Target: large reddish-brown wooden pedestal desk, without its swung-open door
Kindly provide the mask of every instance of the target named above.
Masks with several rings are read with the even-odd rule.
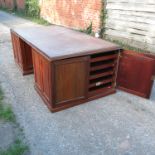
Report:
[[[35,88],[51,111],[116,91],[119,46],[58,26],[14,29],[11,36],[16,63],[23,74],[34,68]]]

